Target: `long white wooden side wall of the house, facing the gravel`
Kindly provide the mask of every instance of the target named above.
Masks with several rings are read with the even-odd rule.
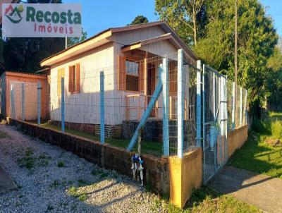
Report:
[[[80,64],[80,92],[68,91],[68,66]],[[66,122],[71,123],[100,123],[100,71],[104,71],[105,90],[105,124],[120,124],[122,119],[115,110],[120,101],[116,97],[117,73],[114,66],[114,45],[106,44],[75,58],[63,61],[51,67],[50,86],[50,117],[53,121],[61,121],[61,97],[57,95],[58,70],[65,68],[65,103]],[[114,74],[115,73],[115,74]]]

